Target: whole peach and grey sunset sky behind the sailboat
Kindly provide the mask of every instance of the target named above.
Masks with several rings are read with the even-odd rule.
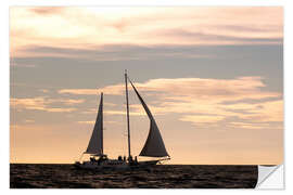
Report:
[[[283,161],[280,6],[11,6],[10,161],[78,159],[101,92],[104,152],[127,155],[125,69],[169,164]],[[136,156],[149,119],[129,102]]]

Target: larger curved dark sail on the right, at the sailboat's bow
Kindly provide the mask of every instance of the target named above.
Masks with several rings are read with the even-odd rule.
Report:
[[[150,157],[169,156],[166,148],[165,148],[165,144],[163,142],[163,139],[161,136],[160,130],[158,130],[156,122],[154,120],[154,117],[152,116],[149,107],[146,106],[146,104],[144,103],[142,98],[140,96],[139,92],[135,88],[131,80],[129,78],[128,78],[128,80],[131,83],[133,90],[136,91],[146,115],[150,118],[150,123],[151,123],[148,139],[146,139],[144,146],[143,146],[142,151],[140,152],[139,156],[150,156]]]

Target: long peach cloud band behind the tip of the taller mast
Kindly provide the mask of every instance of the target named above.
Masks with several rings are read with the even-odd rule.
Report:
[[[202,79],[202,78],[176,78],[176,79],[151,79],[144,83],[135,83],[140,91],[161,92],[173,94],[165,95],[166,100],[176,101],[195,98],[205,100],[206,98],[217,98],[217,101],[224,96],[222,101],[242,100],[250,98],[252,100],[279,96],[276,92],[262,92],[259,88],[265,87],[262,77],[240,77],[237,79]],[[176,89],[176,90],[174,90]],[[61,89],[58,92],[69,94],[99,94],[104,92],[112,95],[124,93],[125,84],[118,83],[106,86],[99,89]],[[174,96],[175,95],[175,96]],[[247,96],[249,95],[249,96]]]

